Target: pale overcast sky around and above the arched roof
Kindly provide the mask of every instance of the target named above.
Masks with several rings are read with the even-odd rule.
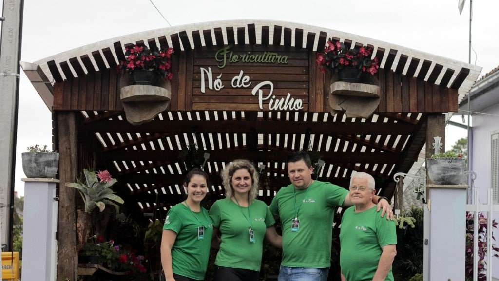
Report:
[[[350,32],[468,62],[469,0],[227,1],[153,0],[172,25],[226,19],[272,19]],[[1,9],[1,7],[0,7]],[[473,2],[472,63],[482,74],[499,64],[497,0]],[[149,0],[25,0],[21,60],[35,60],[96,41],[168,24]],[[23,194],[20,153],[51,146],[51,115],[21,70],[15,189]],[[459,118],[461,119],[461,118]],[[466,136],[448,128],[447,145]]]

